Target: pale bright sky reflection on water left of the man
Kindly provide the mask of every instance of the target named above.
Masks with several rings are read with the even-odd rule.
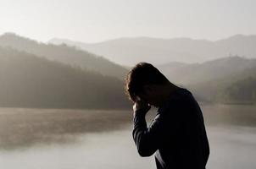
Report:
[[[81,136],[80,143],[37,146],[25,151],[5,151],[1,168],[142,168],[153,161],[139,158],[131,133],[118,131]],[[28,162],[29,161],[29,162]],[[151,165],[148,164],[151,163]],[[39,167],[40,166],[40,167]],[[149,167],[150,168],[150,167]],[[153,167],[151,167],[153,168]]]

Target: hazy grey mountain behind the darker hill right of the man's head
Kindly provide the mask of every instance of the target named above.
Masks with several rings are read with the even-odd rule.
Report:
[[[177,84],[198,85],[231,76],[256,66],[256,59],[246,57],[223,57],[204,63],[166,63],[158,68]],[[237,77],[240,78],[240,77]],[[236,77],[232,77],[236,79]]]

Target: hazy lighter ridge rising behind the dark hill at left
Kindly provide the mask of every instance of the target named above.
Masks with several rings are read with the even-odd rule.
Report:
[[[0,46],[12,47],[19,51],[30,52],[36,56],[70,64],[75,67],[97,71],[100,74],[124,79],[127,69],[112,63],[104,57],[96,56],[90,52],[82,51],[76,47],[66,45],[53,45],[38,43],[31,39],[6,33],[0,36]]]

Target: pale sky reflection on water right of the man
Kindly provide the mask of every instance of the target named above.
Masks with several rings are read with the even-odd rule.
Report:
[[[209,128],[208,168],[255,169],[256,128]]]

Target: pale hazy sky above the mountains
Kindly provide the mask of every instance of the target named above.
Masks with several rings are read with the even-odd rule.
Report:
[[[256,34],[255,0],[0,0],[0,34],[46,42]]]

